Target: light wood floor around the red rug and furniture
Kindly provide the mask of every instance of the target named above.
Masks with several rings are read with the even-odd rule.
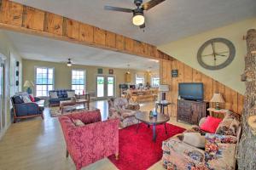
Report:
[[[97,101],[91,105],[99,108],[102,119],[108,117],[108,102]],[[153,103],[141,105],[142,111],[150,111]],[[69,170],[75,169],[73,161],[65,157],[66,144],[62,136],[61,126],[57,118],[49,116],[49,109],[45,108],[44,121],[33,118],[25,122],[12,124],[0,141],[0,169],[1,170]],[[190,127],[182,122],[176,122],[172,117],[170,123],[179,127]],[[102,159],[83,170],[117,169],[108,159]],[[163,169],[160,161],[150,167],[151,170]]]

